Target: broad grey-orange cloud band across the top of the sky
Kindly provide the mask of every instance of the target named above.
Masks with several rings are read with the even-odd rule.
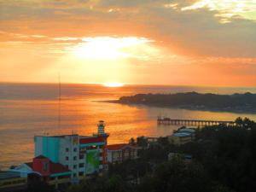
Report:
[[[154,39],[176,55],[251,58],[256,23],[246,15],[254,5],[247,0],[0,0],[5,32],[0,40],[53,44],[135,36]]]

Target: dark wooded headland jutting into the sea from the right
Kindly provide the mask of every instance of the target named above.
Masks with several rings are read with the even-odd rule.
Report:
[[[165,108],[256,113],[256,94],[249,92],[233,95],[201,94],[197,92],[137,94],[135,96],[122,96],[115,102]]]

